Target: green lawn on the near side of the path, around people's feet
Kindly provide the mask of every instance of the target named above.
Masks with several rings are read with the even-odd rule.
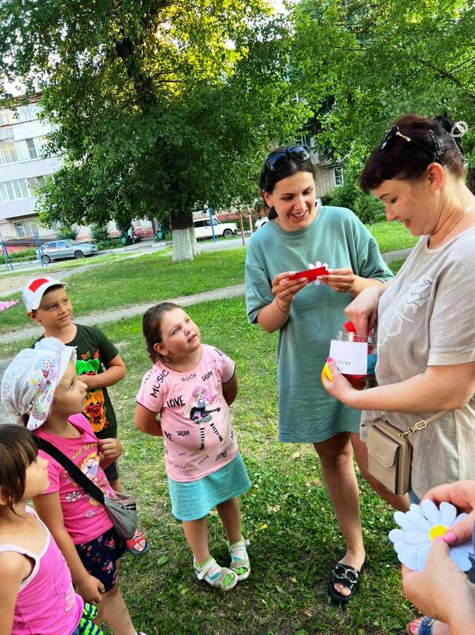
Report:
[[[387,538],[394,521],[362,479],[365,575],[346,610],[328,603],[331,564],[344,547],[314,450],[277,441],[277,335],[248,326],[243,298],[196,305],[189,313],[203,341],[222,347],[237,363],[239,395],[231,411],[253,483],[241,497],[252,572],[226,595],[194,576],[182,526],[170,512],[163,442],[133,427],[135,393],[149,368],[140,319],[109,324],[105,331],[119,345],[128,368],[127,377],[110,390],[124,442],[121,479],[137,499],[151,542],[149,554],[126,556],[122,565],[121,588],[137,630],[148,635],[400,632],[411,607],[401,594],[399,565]],[[211,553],[227,563],[220,521],[215,513],[209,521]]]

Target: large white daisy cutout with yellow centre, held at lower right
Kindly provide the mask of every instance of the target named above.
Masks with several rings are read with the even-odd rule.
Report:
[[[394,520],[401,529],[390,531],[389,540],[394,543],[399,562],[413,571],[424,570],[432,540],[443,536],[465,516],[467,514],[457,516],[457,509],[450,503],[441,503],[437,509],[432,500],[424,500],[420,506],[411,505],[405,514],[394,512]],[[469,555],[474,555],[471,542],[450,547],[449,555],[462,571],[472,568],[469,558]]]

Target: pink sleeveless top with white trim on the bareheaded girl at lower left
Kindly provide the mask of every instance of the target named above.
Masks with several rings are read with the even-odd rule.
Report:
[[[37,518],[32,509],[26,510]],[[83,615],[84,601],[74,592],[64,556],[46,525],[41,525],[44,546],[39,555],[18,545],[0,545],[0,552],[23,554],[33,565],[20,584],[11,635],[71,635]]]

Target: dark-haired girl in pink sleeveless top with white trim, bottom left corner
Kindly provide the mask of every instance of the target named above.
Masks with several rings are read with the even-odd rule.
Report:
[[[19,425],[0,426],[1,631],[102,634],[83,619],[83,598],[74,592],[65,559],[48,528],[27,507],[30,497],[48,487],[48,462],[37,453],[31,432]]]

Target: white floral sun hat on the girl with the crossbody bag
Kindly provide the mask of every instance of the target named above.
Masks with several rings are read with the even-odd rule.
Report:
[[[2,381],[3,404],[27,428],[36,430],[50,415],[57,385],[70,361],[76,362],[76,349],[55,337],[44,337],[34,349],[23,349],[8,364]]]

